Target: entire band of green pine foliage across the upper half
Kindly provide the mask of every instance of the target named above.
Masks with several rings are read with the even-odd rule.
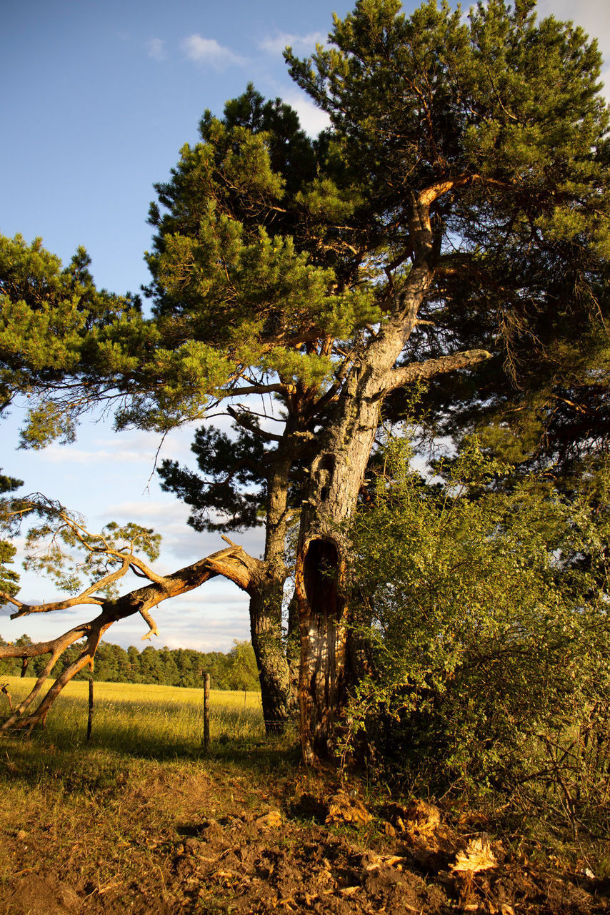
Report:
[[[498,357],[483,382],[487,371],[501,385],[504,363],[522,385],[540,362],[548,389],[562,348],[582,363],[571,330],[603,326],[610,251],[595,42],[538,20],[533,0],[467,17],[434,0],[410,16],[397,0],[359,0],[330,46],[287,61],[331,128],[309,139],[251,85],[222,117],[204,114],[198,143],[155,186],[150,320],[129,296],[94,290],[84,252],[62,270],[39,242],[3,242],[0,384],[5,402],[40,398],[27,444],[70,436],[101,397],[119,427],[162,432],[242,385],[277,385],[300,419],[323,413],[400,311],[421,241],[412,202],[430,188],[434,279],[418,314],[430,323],[401,361],[483,348]],[[87,381],[71,403],[67,373]],[[480,407],[494,395],[464,396]]]

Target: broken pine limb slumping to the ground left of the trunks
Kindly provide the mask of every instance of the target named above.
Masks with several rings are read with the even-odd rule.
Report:
[[[120,527],[111,523],[99,534],[91,534],[82,520],[71,514],[57,502],[37,494],[26,499],[13,501],[4,506],[5,521],[15,525],[32,512],[43,516],[44,522],[27,534],[27,567],[46,570],[59,585],[73,593],[64,600],[44,604],[24,604],[17,597],[0,591],[0,601],[12,604],[16,611],[11,619],[29,616],[32,613],[52,613],[90,604],[98,607],[98,616],[49,641],[30,645],[0,646],[0,661],[8,658],[40,657],[48,654],[48,661],[37,677],[37,682],[26,698],[11,709],[11,714],[0,724],[0,731],[25,729],[30,731],[37,725],[44,725],[48,711],[64,686],[79,671],[93,662],[95,652],[104,633],[119,619],[126,619],[139,613],[149,627],[144,639],[158,635],[151,610],[169,597],[177,597],[204,584],[215,576],[229,578],[243,591],[255,593],[261,587],[265,575],[264,564],[247,554],[241,546],[231,543],[186,565],[171,575],[157,575],[142,558],[158,555],[160,537],[150,529],[136,524]],[[78,550],[79,553],[75,554]],[[145,579],[143,587],[135,588],[122,596],[117,595],[117,582],[129,572]],[[83,578],[92,579],[83,587]],[[75,642],[84,640],[75,661],[60,674],[48,692],[40,698],[42,688],[61,655]]]

